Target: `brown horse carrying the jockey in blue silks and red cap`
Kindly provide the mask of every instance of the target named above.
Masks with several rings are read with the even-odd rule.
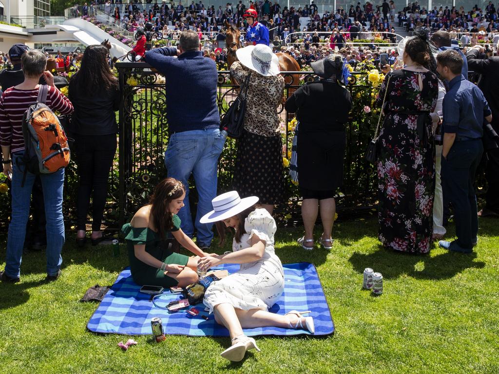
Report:
[[[239,31],[240,24],[234,25],[225,21],[227,31],[225,34],[226,46],[227,46],[227,68],[230,70],[231,65],[234,61],[237,61],[238,57],[236,56],[236,50],[238,48],[243,48],[244,46],[241,44],[241,31]],[[296,60],[288,55],[287,53],[276,53],[275,54],[279,59],[279,68],[280,71],[300,71],[300,65]],[[285,77],[286,83],[290,85],[298,85],[300,82],[299,74],[292,74],[290,76]]]

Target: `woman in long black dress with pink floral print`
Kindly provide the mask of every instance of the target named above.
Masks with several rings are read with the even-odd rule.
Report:
[[[389,248],[430,251],[435,191],[435,139],[432,121],[438,78],[428,66],[425,38],[407,41],[405,67],[386,75],[376,106],[386,92],[385,120],[378,155],[379,240]]]

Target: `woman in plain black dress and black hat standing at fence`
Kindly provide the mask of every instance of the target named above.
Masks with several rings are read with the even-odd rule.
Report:
[[[343,181],[344,125],[352,109],[350,92],[338,82],[342,57],[330,55],[311,66],[322,79],[297,89],[285,105],[288,112],[296,113],[299,123],[298,184],[305,235],[298,242],[307,250],[314,247],[313,227],[319,210],[324,230],[319,242],[326,249],[332,248],[334,194]]]

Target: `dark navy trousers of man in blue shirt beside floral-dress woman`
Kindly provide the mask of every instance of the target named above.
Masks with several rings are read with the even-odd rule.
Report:
[[[484,146],[482,139],[455,142],[447,155],[442,157],[442,182],[445,193],[454,207],[456,222],[456,244],[472,249],[478,234],[477,196],[475,194],[475,172]]]

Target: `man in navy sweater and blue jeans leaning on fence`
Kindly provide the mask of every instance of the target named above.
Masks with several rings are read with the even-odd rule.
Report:
[[[177,57],[178,56],[178,57]],[[182,230],[190,237],[197,230],[197,244],[206,251],[213,239],[212,225],[199,219],[213,209],[217,195],[217,164],[226,136],[220,132],[217,106],[217,65],[203,57],[198,34],[186,30],[175,47],[152,49],[145,61],[166,78],[166,103],[170,140],[165,152],[168,177],[186,187],[184,207],[178,215]],[[199,194],[196,221],[189,207],[189,185],[194,175]]]

